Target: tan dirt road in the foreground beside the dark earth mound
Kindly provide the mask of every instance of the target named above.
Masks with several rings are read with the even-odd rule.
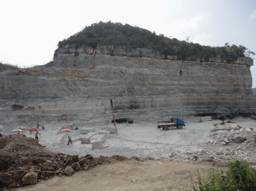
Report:
[[[191,190],[190,174],[196,179],[197,170],[207,174],[210,166],[173,161],[127,160],[79,171],[70,177],[54,177],[17,191],[130,191],[130,190]]]

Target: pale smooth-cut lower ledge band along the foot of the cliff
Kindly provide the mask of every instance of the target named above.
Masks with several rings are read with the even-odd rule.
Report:
[[[177,98],[118,98],[113,100],[115,112],[121,110],[132,109],[152,109],[152,108],[179,108],[179,107],[208,107],[208,111],[213,112],[213,109],[224,106],[232,108],[233,106],[242,106],[239,112],[249,112],[246,108],[256,107],[256,96],[234,96],[234,97],[177,97]],[[40,106],[40,107],[38,107]],[[20,111],[1,111],[2,117],[12,117],[15,115],[61,115],[61,114],[82,114],[82,113],[102,113],[109,112],[110,101],[87,101],[84,102],[56,102],[56,103],[41,103],[37,105],[35,110],[20,110]],[[234,112],[234,111],[233,111]],[[182,112],[181,112],[182,113]],[[193,114],[193,112],[191,112]]]

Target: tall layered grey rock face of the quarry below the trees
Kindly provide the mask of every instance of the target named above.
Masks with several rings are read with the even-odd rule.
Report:
[[[255,112],[252,59],[182,62],[162,56],[125,47],[66,46],[42,67],[0,73],[2,116],[105,112],[109,98],[115,110],[171,108],[190,114],[222,107]],[[13,104],[25,107],[11,111]]]

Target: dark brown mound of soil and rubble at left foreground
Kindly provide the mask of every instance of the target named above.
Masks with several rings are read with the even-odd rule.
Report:
[[[87,158],[85,160],[81,160]],[[81,160],[80,162],[78,162]],[[124,156],[98,157],[91,155],[78,157],[50,152],[34,138],[25,135],[9,135],[0,137],[0,189],[19,188],[23,186],[23,176],[35,171],[37,181],[47,180],[55,175],[63,176],[64,169],[72,166],[75,171],[88,170],[99,164],[128,160]],[[14,171],[14,172],[10,172]],[[58,173],[54,173],[60,171]],[[11,174],[11,175],[9,175]]]

